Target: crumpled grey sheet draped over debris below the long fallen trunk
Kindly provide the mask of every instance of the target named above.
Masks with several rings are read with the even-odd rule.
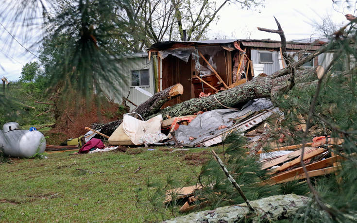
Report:
[[[204,141],[204,139],[210,139],[213,136],[218,136],[224,133],[233,125],[234,119],[237,119],[248,112],[258,112],[271,108],[272,102],[269,99],[261,98],[251,100],[246,103],[239,111],[234,109],[216,109],[208,112],[204,112],[192,120],[188,125],[180,125],[174,132],[177,141],[187,147],[194,147],[198,143]],[[225,125],[227,128],[218,130],[219,126]],[[189,137],[194,137],[194,140],[190,140]]]

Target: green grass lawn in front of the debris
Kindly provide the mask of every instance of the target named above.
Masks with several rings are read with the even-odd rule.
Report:
[[[194,180],[201,167],[192,159],[210,156],[203,150],[132,148],[125,153],[65,152],[47,154],[48,159],[12,159],[0,165],[0,222],[160,221],[159,214],[136,207],[136,191],[145,193],[148,177],[164,182],[171,173],[182,184],[187,177]],[[133,154],[136,151],[142,152]],[[134,173],[139,166],[142,169]],[[165,212],[164,218],[171,217]]]

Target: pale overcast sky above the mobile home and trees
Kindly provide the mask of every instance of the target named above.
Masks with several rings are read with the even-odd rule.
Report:
[[[217,1],[219,3],[222,0]],[[265,7],[249,11],[241,9],[239,5],[226,5],[219,13],[218,22],[211,24],[208,37],[212,39],[217,37],[280,40],[278,34],[256,29],[256,27],[277,29],[273,18],[275,16],[287,40],[317,38],[319,36],[313,28],[314,21],[322,23],[322,18],[329,15],[335,23],[346,24],[344,14],[354,14],[355,11],[354,5],[350,8],[347,4],[333,7],[332,0],[266,0],[264,5]],[[6,35],[8,33],[0,27],[0,38]],[[32,43],[23,43],[19,36],[14,35],[25,47],[31,46]],[[36,54],[35,51],[34,54]],[[16,42],[12,44],[11,50],[0,46],[0,65],[3,68],[0,68],[0,77],[5,76],[9,80],[17,80],[23,65],[35,60],[36,57],[30,53],[24,55],[24,49]]]

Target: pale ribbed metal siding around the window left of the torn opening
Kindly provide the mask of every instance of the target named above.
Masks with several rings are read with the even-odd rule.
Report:
[[[146,96],[139,91],[137,91],[131,85],[131,71],[137,69],[149,69],[149,86],[139,86],[142,89],[149,91],[154,94],[154,83],[153,83],[153,64],[152,61],[149,61],[147,57],[136,57],[136,58],[126,58],[117,60],[118,66],[121,70],[121,75],[124,75],[124,81],[118,77],[114,77],[112,82],[113,85],[107,82],[100,82],[102,91],[111,99],[114,99],[115,103],[121,103],[121,98],[128,96],[130,90],[129,100],[136,105],[145,102],[150,97]],[[125,83],[126,82],[126,83]],[[130,107],[130,111],[135,108],[134,105],[127,102],[127,105]]]

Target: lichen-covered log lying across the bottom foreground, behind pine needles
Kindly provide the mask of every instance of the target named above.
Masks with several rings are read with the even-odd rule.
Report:
[[[252,222],[278,221],[292,219],[300,207],[305,206],[310,198],[295,194],[276,195],[251,201],[256,213],[249,211],[245,203],[235,206],[219,207],[215,210],[200,211],[185,216],[176,217],[165,223],[186,222]]]

